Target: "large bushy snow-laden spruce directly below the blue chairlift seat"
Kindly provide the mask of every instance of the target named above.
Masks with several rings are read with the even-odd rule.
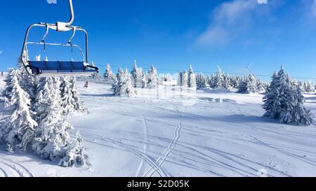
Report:
[[[62,114],[58,79],[41,78],[40,84],[36,103],[39,126],[34,131],[32,144],[34,153],[45,160],[58,162],[62,167],[84,165],[82,140],[71,139],[67,132],[73,127]]]

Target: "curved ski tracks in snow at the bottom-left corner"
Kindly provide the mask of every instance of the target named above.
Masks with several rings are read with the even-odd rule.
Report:
[[[1,158],[0,177],[33,177],[33,174],[22,164]]]

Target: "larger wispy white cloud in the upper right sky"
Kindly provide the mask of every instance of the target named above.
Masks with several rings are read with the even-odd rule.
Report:
[[[228,43],[253,22],[258,6],[256,0],[233,0],[220,4],[211,15],[211,24],[197,38],[199,45]]]

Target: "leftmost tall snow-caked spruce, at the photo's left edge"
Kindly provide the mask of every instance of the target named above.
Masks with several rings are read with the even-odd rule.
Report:
[[[0,142],[6,141],[14,149],[26,150],[29,143],[32,143],[37,122],[32,119],[32,111],[29,110],[29,94],[20,86],[20,71],[13,69],[10,76],[7,85],[12,89],[8,92],[6,106],[11,108],[11,113],[1,124]]]

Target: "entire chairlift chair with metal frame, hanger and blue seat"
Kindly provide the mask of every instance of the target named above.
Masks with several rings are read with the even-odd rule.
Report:
[[[25,34],[25,41],[23,43],[21,60],[22,64],[25,66],[27,73],[31,76],[42,76],[42,77],[52,77],[52,76],[91,76],[99,72],[98,67],[91,66],[88,64],[88,33],[85,29],[81,27],[72,26],[72,22],[74,21],[74,9],[72,6],[72,0],[69,0],[70,5],[70,14],[71,18],[69,22],[56,22],[55,24],[48,24],[44,22],[39,22],[38,24],[32,24],[28,27]],[[46,33],[43,38],[39,42],[29,42],[28,36],[29,31],[33,27],[45,27]],[[46,43],[45,38],[48,35],[48,31],[50,29],[54,31],[72,31],[72,36],[67,41],[67,43]],[[72,38],[74,38],[76,31],[84,32],[86,35],[86,51],[85,53],[81,50],[79,45],[72,44]],[[67,46],[70,48],[78,48],[79,52],[81,52],[82,60],[81,61],[36,61],[29,60],[27,45],[43,45],[44,51],[46,45],[61,45]]]

